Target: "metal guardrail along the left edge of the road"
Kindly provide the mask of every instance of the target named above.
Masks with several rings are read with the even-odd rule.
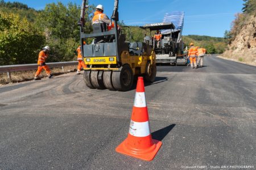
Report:
[[[77,61],[69,61],[69,62],[51,62],[47,63],[47,66],[50,68],[62,67],[63,72],[65,66],[73,66],[77,65]],[[11,78],[11,72],[15,71],[28,71],[28,70],[36,70],[38,69],[37,64],[27,64],[27,65],[9,65],[9,66],[0,66],[0,73],[7,73],[8,78]]]

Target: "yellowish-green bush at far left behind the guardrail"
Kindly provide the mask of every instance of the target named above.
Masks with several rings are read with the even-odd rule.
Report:
[[[17,14],[0,12],[0,65],[35,63],[43,33]]]

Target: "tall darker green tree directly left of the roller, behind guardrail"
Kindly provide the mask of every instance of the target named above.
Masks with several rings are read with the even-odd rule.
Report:
[[[86,10],[85,30],[92,31],[89,15],[93,6]],[[45,32],[47,44],[51,46],[48,61],[70,61],[74,58],[74,50],[80,42],[80,27],[77,24],[80,18],[80,6],[68,3],[50,3],[41,12],[36,20],[42,31]]]

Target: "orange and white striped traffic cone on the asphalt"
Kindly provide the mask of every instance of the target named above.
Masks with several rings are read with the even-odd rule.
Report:
[[[152,139],[143,78],[138,78],[128,137],[115,151],[143,160],[153,160],[162,142]]]

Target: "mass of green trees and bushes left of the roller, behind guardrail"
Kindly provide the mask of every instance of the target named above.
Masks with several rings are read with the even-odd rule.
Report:
[[[92,32],[90,19],[93,8],[94,6],[90,6],[85,12],[85,31],[87,33]],[[77,24],[80,18],[79,5],[68,3],[65,6],[61,2],[57,2],[46,5],[44,10],[36,11],[23,3],[2,0],[0,1],[0,12],[14,15],[19,18],[20,23],[23,23],[18,24],[21,27],[20,32],[15,33],[14,29],[10,29],[11,25],[15,24],[11,17],[10,19],[0,17],[1,36],[4,35],[3,32],[7,31],[13,33],[12,36],[7,35],[13,39],[19,39],[14,43],[10,37],[9,39],[5,38],[6,45],[3,46],[1,41],[3,37],[0,38],[0,54],[5,54],[5,57],[1,56],[0,65],[36,63],[38,52],[45,45],[49,45],[51,48],[47,62],[71,61],[76,57],[74,50],[80,43],[80,27]],[[90,42],[90,40],[88,41]],[[24,49],[23,44],[26,45]],[[11,46],[11,49],[6,46]],[[28,47],[30,48],[28,49]],[[7,53],[8,55],[6,55]]]

